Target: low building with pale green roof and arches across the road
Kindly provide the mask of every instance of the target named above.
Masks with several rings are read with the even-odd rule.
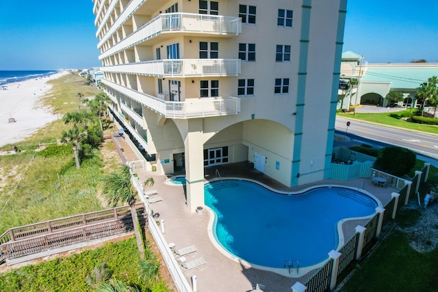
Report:
[[[342,53],[341,79],[360,79],[359,86],[339,90],[338,108],[361,104],[389,106],[385,96],[389,91],[401,92],[403,100],[398,107],[418,107],[415,94],[421,83],[438,76],[438,63],[385,63],[363,62],[363,56],[346,51]],[[360,78],[359,78],[360,77]],[[357,94],[359,92],[359,94]]]

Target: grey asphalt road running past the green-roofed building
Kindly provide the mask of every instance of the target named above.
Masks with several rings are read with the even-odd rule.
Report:
[[[374,107],[374,110],[376,109],[387,111],[386,108]],[[346,126],[348,120],[350,121],[350,127]],[[361,144],[369,144],[378,148],[388,145],[400,146],[413,150],[420,155],[420,159],[435,166],[438,165],[438,135],[341,117],[336,117],[335,129],[337,135],[346,135],[350,141],[335,142],[334,146],[349,147]]]

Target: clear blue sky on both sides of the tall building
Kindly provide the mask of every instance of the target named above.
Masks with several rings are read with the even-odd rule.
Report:
[[[93,5],[0,0],[0,70],[101,66]],[[438,62],[437,11],[437,0],[348,0],[343,51],[371,63]]]

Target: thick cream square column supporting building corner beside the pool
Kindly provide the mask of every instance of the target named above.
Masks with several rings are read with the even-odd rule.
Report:
[[[190,212],[204,207],[203,119],[186,120],[188,132],[184,140],[187,206]]]

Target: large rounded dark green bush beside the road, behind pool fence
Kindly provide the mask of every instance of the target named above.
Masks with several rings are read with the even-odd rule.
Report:
[[[402,176],[414,167],[416,159],[412,150],[396,146],[386,147],[378,152],[374,167],[395,176]]]

